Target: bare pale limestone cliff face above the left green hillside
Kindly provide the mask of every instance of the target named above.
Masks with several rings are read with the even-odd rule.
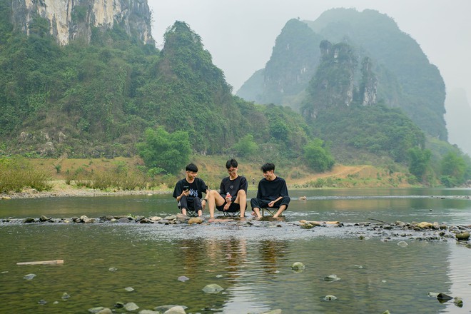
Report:
[[[93,28],[111,29],[114,24],[143,43],[153,42],[146,0],[13,0],[11,8],[15,31],[29,34],[29,24],[40,16],[49,21],[49,30],[61,45],[76,38],[89,42]]]

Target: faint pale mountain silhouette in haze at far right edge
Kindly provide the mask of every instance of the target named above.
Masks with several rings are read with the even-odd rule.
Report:
[[[466,91],[455,88],[447,93],[445,101],[448,141],[457,144],[471,156],[471,106]]]

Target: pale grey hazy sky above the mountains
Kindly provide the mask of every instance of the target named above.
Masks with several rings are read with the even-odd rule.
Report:
[[[153,38],[175,21],[201,36],[234,93],[263,69],[289,19],[314,21],[328,9],[375,9],[392,17],[440,69],[447,89],[465,88],[471,98],[470,0],[148,0]]]

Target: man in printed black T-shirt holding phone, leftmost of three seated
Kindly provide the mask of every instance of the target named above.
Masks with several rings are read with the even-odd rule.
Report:
[[[178,208],[181,213],[186,215],[187,209],[193,209],[198,213],[198,216],[203,215],[203,209],[206,206],[206,198],[208,197],[209,189],[201,178],[196,178],[198,175],[198,167],[194,163],[186,166],[186,177],[178,181],[173,189],[173,197],[178,202]],[[206,198],[201,201],[203,194]]]

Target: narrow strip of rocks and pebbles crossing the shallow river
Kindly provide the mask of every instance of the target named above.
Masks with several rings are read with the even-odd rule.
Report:
[[[224,235],[233,228],[251,228],[252,230],[270,230],[270,235],[289,236],[293,238],[310,238],[312,236],[334,236],[334,237],[356,237],[359,240],[378,238],[382,240],[401,240],[400,245],[407,245],[405,240],[433,240],[448,241],[457,240],[467,246],[470,239],[471,226],[449,226],[445,223],[412,222],[405,223],[395,221],[387,223],[383,221],[364,221],[358,223],[342,223],[340,221],[285,221],[284,218],[264,217],[258,218],[233,218],[221,217],[216,219],[205,219],[201,217],[188,217],[181,214],[166,217],[144,217],[144,216],[102,216],[99,218],[88,218],[87,216],[71,218],[51,218],[40,216],[39,218],[6,218],[1,219],[0,224],[156,224],[158,226],[173,226],[185,228],[191,225],[208,226],[211,233]],[[273,227],[276,229],[273,230]],[[206,233],[205,228],[198,228],[200,233]],[[276,230],[280,230],[280,235]],[[399,244],[399,243],[398,243]]]

